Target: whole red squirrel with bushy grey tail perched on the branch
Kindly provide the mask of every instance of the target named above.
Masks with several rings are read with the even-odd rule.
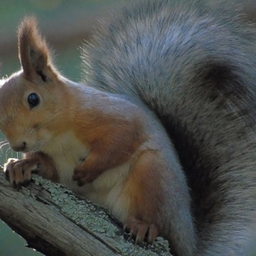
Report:
[[[173,255],[246,255],[255,235],[256,49],[233,7],[140,0],[82,49],[64,78],[35,18],[21,70],[1,82],[0,128],[32,172],[108,208],[137,242]]]

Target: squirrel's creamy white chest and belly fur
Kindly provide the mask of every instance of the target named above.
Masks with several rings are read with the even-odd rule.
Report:
[[[126,218],[129,202],[119,198],[130,171],[130,162],[109,169],[93,183],[79,187],[73,181],[73,170],[89,154],[88,148],[72,132],[66,132],[55,137],[55,140],[44,148],[44,152],[54,160],[61,184],[72,189],[74,193],[108,208],[121,220]]]

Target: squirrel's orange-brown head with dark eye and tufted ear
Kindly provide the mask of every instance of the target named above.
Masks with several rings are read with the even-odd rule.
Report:
[[[15,151],[40,150],[53,131],[63,129],[60,115],[67,88],[52,64],[35,18],[19,27],[21,70],[0,83],[0,129]],[[63,108],[63,109],[61,109]],[[61,120],[61,121],[60,121]],[[53,127],[54,126],[54,127]]]

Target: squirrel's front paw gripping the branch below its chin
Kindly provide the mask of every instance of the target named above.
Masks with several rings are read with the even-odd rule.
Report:
[[[39,163],[32,159],[9,158],[3,170],[10,183],[19,188],[20,185],[26,185],[31,181],[32,172],[37,172],[38,167]]]

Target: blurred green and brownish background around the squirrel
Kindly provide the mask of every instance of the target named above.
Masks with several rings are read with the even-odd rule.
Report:
[[[189,0],[188,0],[189,1]],[[208,1],[208,0],[206,0]],[[239,0],[234,0],[234,3]],[[55,66],[69,79],[79,81],[79,46],[89,39],[99,19],[108,16],[120,0],[0,0],[0,72],[2,77],[20,69],[16,30],[25,15],[36,15],[38,26],[54,49]],[[129,0],[127,1],[129,2]],[[240,1],[255,17],[255,0]],[[0,140],[3,140],[0,134]],[[4,144],[4,143],[2,143]],[[0,164],[17,154],[8,145],[0,147]],[[1,197],[0,197],[1,200]],[[26,241],[0,219],[0,256],[42,255],[25,247]]]

